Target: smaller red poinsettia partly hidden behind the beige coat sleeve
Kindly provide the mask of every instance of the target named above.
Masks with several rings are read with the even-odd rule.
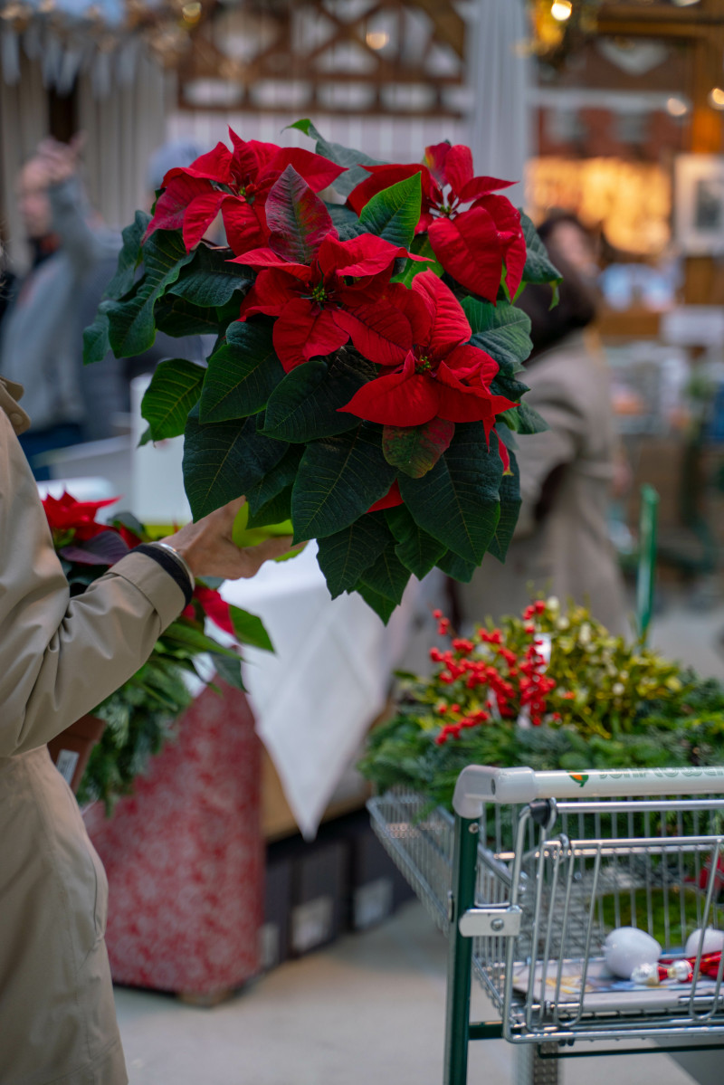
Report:
[[[135,547],[152,541],[145,527],[128,512],[116,513],[110,523],[98,520],[101,509],[117,501],[117,497],[77,501],[67,492],[60,498],[48,495],[42,501],[72,596],[85,591]],[[199,674],[194,659],[208,653],[225,681],[243,689],[238,646],[244,642],[270,651],[271,642],[259,618],[221,598],[218,583],[196,582],[191,602],[157,641],[155,662],[168,658],[169,665],[181,662]],[[206,620],[227,634],[226,643],[205,631]],[[229,646],[228,637],[233,638],[236,647]]]

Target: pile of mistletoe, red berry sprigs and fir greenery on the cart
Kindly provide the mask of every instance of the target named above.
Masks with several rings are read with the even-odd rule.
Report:
[[[611,636],[583,607],[535,600],[499,626],[455,636],[431,673],[399,674],[393,719],[360,769],[380,790],[411,787],[450,803],[466,765],[534,769],[716,765],[724,687]]]

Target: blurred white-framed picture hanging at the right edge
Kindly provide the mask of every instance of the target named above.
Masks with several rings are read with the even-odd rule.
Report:
[[[676,158],[674,234],[689,256],[724,254],[724,155]]]

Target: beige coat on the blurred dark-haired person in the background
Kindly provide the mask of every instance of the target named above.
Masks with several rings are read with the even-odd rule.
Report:
[[[505,565],[486,554],[471,583],[460,585],[462,616],[482,622],[488,614],[520,614],[532,592],[543,591],[561,602],[588,602],[611,633],[625,633],[623,580],[607,524],[617,437],[606,361],[576,333],[521,376],[531,388],[525,403],[550,429],[518,438],[523,503],[516,535]],[[556,469],[549,511],[536,522],[535,508]]]

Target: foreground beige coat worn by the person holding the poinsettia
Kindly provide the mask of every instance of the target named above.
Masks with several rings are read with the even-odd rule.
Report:
[[[183,596],[130,553],[69,598],[21,394],[0,379],[0,1085],[125,1085],[105,873],[46,742],[141,666]]]

